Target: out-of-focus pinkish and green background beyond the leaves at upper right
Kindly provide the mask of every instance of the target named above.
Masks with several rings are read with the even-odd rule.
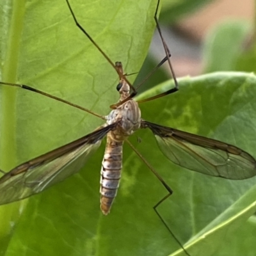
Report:
[[[255,70],[254,12],[255,1],[232,0],[164,0],[159,22],[164,40],[172,54],[177,77],[198,76],[214,71]],[[145,76],[164,57],[159,34],[155,33],[143,71]],[[141,86],[140,92],[170,77],[169,68]]]

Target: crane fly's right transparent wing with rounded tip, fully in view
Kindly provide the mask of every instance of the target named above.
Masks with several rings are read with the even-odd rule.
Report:
[[[256,161],[240,148],[169,127],[141,122],[156,136],[163,154],[184,168],[226,179],[248,179],[256,175]]]

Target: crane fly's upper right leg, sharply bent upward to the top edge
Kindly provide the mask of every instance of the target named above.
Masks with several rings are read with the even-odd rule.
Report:
[[[173,67],[172,67],[172,63],[171,63],[171,60],[170,60],[170,50],[163,38],[163,35],[162,35],[162,31],[160,29],[160,26],[159,26],[159,22],[158,22],[158,19],[157,19],[157,13],[158,13],[158,9],[159,9],[159,3],[160,3],[160,0],[157,1],[157,7],[156,7],[156,12],[155,12],[155,15],[154,15],[154,19],[156,21],[156,28],[157,28],[157,31],[159,33],[159,36],[161,37],[161,41],[163,43],[163,47],[164,47],[164,52],[166,54],[166,58],[168,60],[168,64],[169,64],[169,67],[170,67],[170,70],[171,70],[171,73],[172,73],[172,77],[173,77],[173,81],[174,81],[174,84],[175,84],[175,87],[166,91],[166,92],[163,92],[163,93],[160,93],[159,95],[156,95],[156,96],[153,96],[153,97],[150,97],[148,99],[145,99],[145,100],[140,100],[138,101],[138,103],[141,103],[141,102],[147,102],[147,101],[150,101],[150,100],[154,100],[154,99],[157,99],[157,98],[160,98],[160,97],[163,97],[165,95],[168,95],[168,94],[171,94],[171,93],[174,93],[174,92],[177,92],[179,90],[179,84],[177,82],[177,79],[176,79],[176,76],[175,76],[175,73],[174,73],[174,70],[173,70]]]

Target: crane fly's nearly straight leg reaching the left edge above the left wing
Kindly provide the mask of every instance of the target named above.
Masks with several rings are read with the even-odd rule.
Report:
[[[28,85],[26,85],[26,84],[13,84],[13,83],[4,83],[4,82],[0,82],[0,84],[15,86],[15,87],[19,87],[19,88],[22,88],[22,89],[25,89],[25,90],[29,90],[29,91],[31,91],[31,92],[39,93],[39,94],[44,95],[44,96],[46,96],[46,97],[49,97],[49,98],[51,98],[51,99],[58,100],[58,101],[60,101],[60,102],[63,102],[63,103],[65,103],[65,104],[68,104],[68,105],[70,105],[70,106],[72,106],[72,107],[74,107],[74,108],[79,108],[79,109],[81,109],[81,110],[83,110],[83,111],[86,111],[86,112],[88,112],[88,113],[90,113],[90,114],[92,114],[92,115],[94,115],[94,116],[98,116],[99,118],[101,118],[101,119],[103,119],[103,120],[106,120],[106,118],[105,118],[104,116],[98,115],[97,113],[94,113],[93,111],[90,111],[90,110],[87,109],[87,108],[83,108],[83,107],[81,107],[81,106],[79,106],[79,105],[77,105],[77,104],[73,104],[73,103],[71,103],[71,102],[68,102],[67,100],[63,100],[63,99],[58,98],[58,97],[56,97],[56,96],[54,96],[54,95],[51,95],[51,94],[49,94],[49,93],[42,92],[42,91],[37,90],[37,89],[35,89],[35,88],[33,88],[33,87],[30,87],[30,86],[28,86]]]

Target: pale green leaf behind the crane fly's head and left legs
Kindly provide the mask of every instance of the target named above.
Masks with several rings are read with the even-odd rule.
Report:
[[[111,60],[122,61],[125,71],[132,73],[140,70],[147,54],[154,28],[155,2],[150,5],[120,1],[115,6],[105,1],[97,4],[71,1],[71,4],[77,19]],[[115,70],[76,27],[65,0],[54,4],[4,0],[0,3],[6,14],[1,26],[5,38],[1,81],[29,84],[101,115],[108,114],[109,104],[118,100],[114,94],[118,82]],[[88,115],[82,111],[75,115],[73,108],[60,102],[22,90],[10,91],[8,86],[1,88],[3,100],[17,94],[14,103],[3,102],[4,122],[1,122],[4,131],[8,130],[1,137],[1,145],[12,140],[21,147],[17,148],[16,163],[61,145],[63,137],[66,142],[74,140],[101,124],[98,118],[88,122]],[[11,122],[15,126],[8,124]],[[13,150],[8,153],[13,154]],[[1,168],[16,163],[2,162]]]

